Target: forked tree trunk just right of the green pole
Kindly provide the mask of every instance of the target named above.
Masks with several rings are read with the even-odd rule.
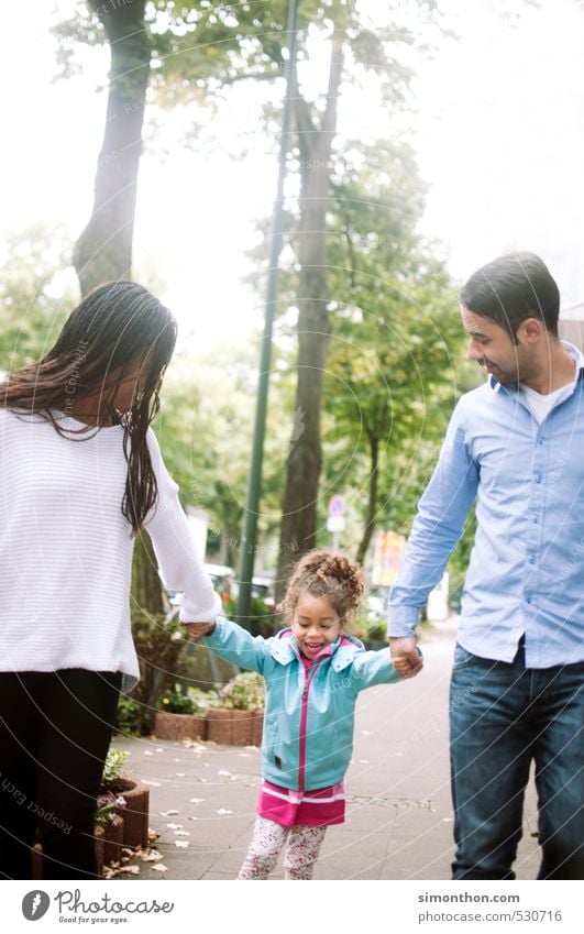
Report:
[[[317,537],[318,482],[321,465],[320,408],[330,338],[327,311],[327,207],[332,142],[337,132],[337,98],[342,73],[341,33],[335,33],[329,72],[327,107],[315,128],[307,102],[296,91],[296,118],[301,157],[298,257],[298,380],[294,430],[283,498],[277,598],[291,564],[310,551]]]

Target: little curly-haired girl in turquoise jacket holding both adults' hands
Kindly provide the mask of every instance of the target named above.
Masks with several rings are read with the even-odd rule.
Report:
[[[263,784],[240,879],[266,879],[286,844],[285,878],[311,879],[327,827],[344,821],[343,778],[356,696],[399,681],[389,649],[365,651],[345,633],[363,576],[344,554],[312,551],[297,563],[284,609],[288,627],[253,637],[235,623],[188,624],[194,638],[265,678]]]

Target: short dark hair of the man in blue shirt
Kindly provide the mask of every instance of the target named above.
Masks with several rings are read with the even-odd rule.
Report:
[[[535,253],[508,253],[481,266],[462,287],[461,303],[469,311],[500,325],[511,338],[526,318],[539,318],[558,336],[560,292]]]

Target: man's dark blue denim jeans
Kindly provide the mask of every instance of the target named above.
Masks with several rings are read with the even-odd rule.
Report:
[[[584,879],[584,662],[525,667],[456,646],[450,689],[454,879],[515,879],[536,762],[538,879]]]

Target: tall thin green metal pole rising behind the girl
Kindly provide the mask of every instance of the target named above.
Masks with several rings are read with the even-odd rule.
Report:
[[[240,590],[238,595],[238,622],[245,624],[250,618],[252,600],[252,578],[254,552],[257,541],[257,518],[262,491],[262,463],[264,459],[264,438],[267,413],[267,392],[269,366],[272,360],[272,330],[278,292],[278,261],[282,251],[284,220],[284,182],[286,178],[286,156],[290,134],[293,75],[296,68],[296,28],[298,21],[298,0],[290,0],[288,7],[288,61],[286,62],[286,96],[282,114],[282,140],[279,147],[279,167],[276,200],[272,216],[269,267],[266,290],[266,310],[264,318],[264,336],[260,358],[260,380],[257,385],[257,402],[255,407],[255,425],[253,435],[252,461],[245,503],[245,523],[241,538],[242,561],[240,573]]]

